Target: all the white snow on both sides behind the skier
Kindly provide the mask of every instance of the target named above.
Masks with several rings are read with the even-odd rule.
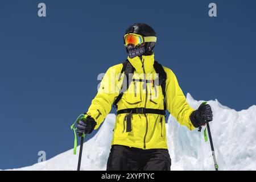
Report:
[[[190,106],[197,108],[201,102],[187,94]],[[256,106],[236,111],[215,101],[208,101],[213,109],[210,130],[220,170],[256,170]],[[84,143],[81,170],[105,170],[110,152],[115,115],[109,114],[100,131]],[[172,170],[214,170],[209,142],[201,133],[180,126],[171,115],[166,123],[168,147]],[[79,147],[77,147],[77,153]],[[78,154],[73,149],[46,162],[14,170],[76,170]]]

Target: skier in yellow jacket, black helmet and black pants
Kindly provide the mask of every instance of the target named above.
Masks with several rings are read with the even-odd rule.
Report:
[[[97,129],[113,104],[117,117],[106,169],[170,171],[165,110],[193,130],[212,121],[212,109],[208,104],[192,109],[171,69],[154,60],[156,32],[152,27],[135,23],[126,30],[123,41],[127,60],[108,69],[86,121],[77,125],[77,134]]]

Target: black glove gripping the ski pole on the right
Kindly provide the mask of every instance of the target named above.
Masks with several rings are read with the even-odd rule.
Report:
[[[191,113],[189,118],[194,127],[203,126],[212,121],[212,108],[209,104],[201,104],[197,110]]]

